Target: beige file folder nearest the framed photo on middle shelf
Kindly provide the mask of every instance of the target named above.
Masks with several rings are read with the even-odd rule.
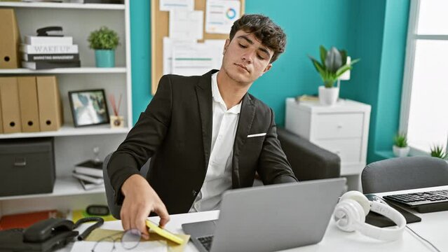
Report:
[[[64,123],[56,76],[36,76],[41,131],[59,130]]]

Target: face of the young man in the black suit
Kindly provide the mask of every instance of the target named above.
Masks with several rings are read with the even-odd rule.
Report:
[[[223,55],[222,69],[242,85],[252,84],[272,66],[273,51],[243,30],[237,31],[231,41],[226,40]]]

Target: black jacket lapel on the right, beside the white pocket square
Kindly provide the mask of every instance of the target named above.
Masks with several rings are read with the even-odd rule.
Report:
[[[256,106],[249,94],[245,94],[243,102],[241,103],[240,118],[238,120],[238,127],[236,129],[235,143],[233,143],[233,160],[232,160],[232,187],[240,187],[240,174],[239,174],[239,154],[241,148],[243,148],[247,135],[252,127],[252,122],[255,116]]]

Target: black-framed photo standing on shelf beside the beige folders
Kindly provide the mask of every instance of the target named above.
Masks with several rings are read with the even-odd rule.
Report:
[[[103,89],[69,91],[69,101],[75,127],[109,123]]]

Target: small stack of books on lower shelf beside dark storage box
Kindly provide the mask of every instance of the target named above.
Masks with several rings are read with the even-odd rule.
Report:
[[[84,190],[92,190],[95,188],[102,188],[104,180],[102,176],[102,162],[95,160],[87,160],[75,165],[73,176],[79,179],[79,183]]]

